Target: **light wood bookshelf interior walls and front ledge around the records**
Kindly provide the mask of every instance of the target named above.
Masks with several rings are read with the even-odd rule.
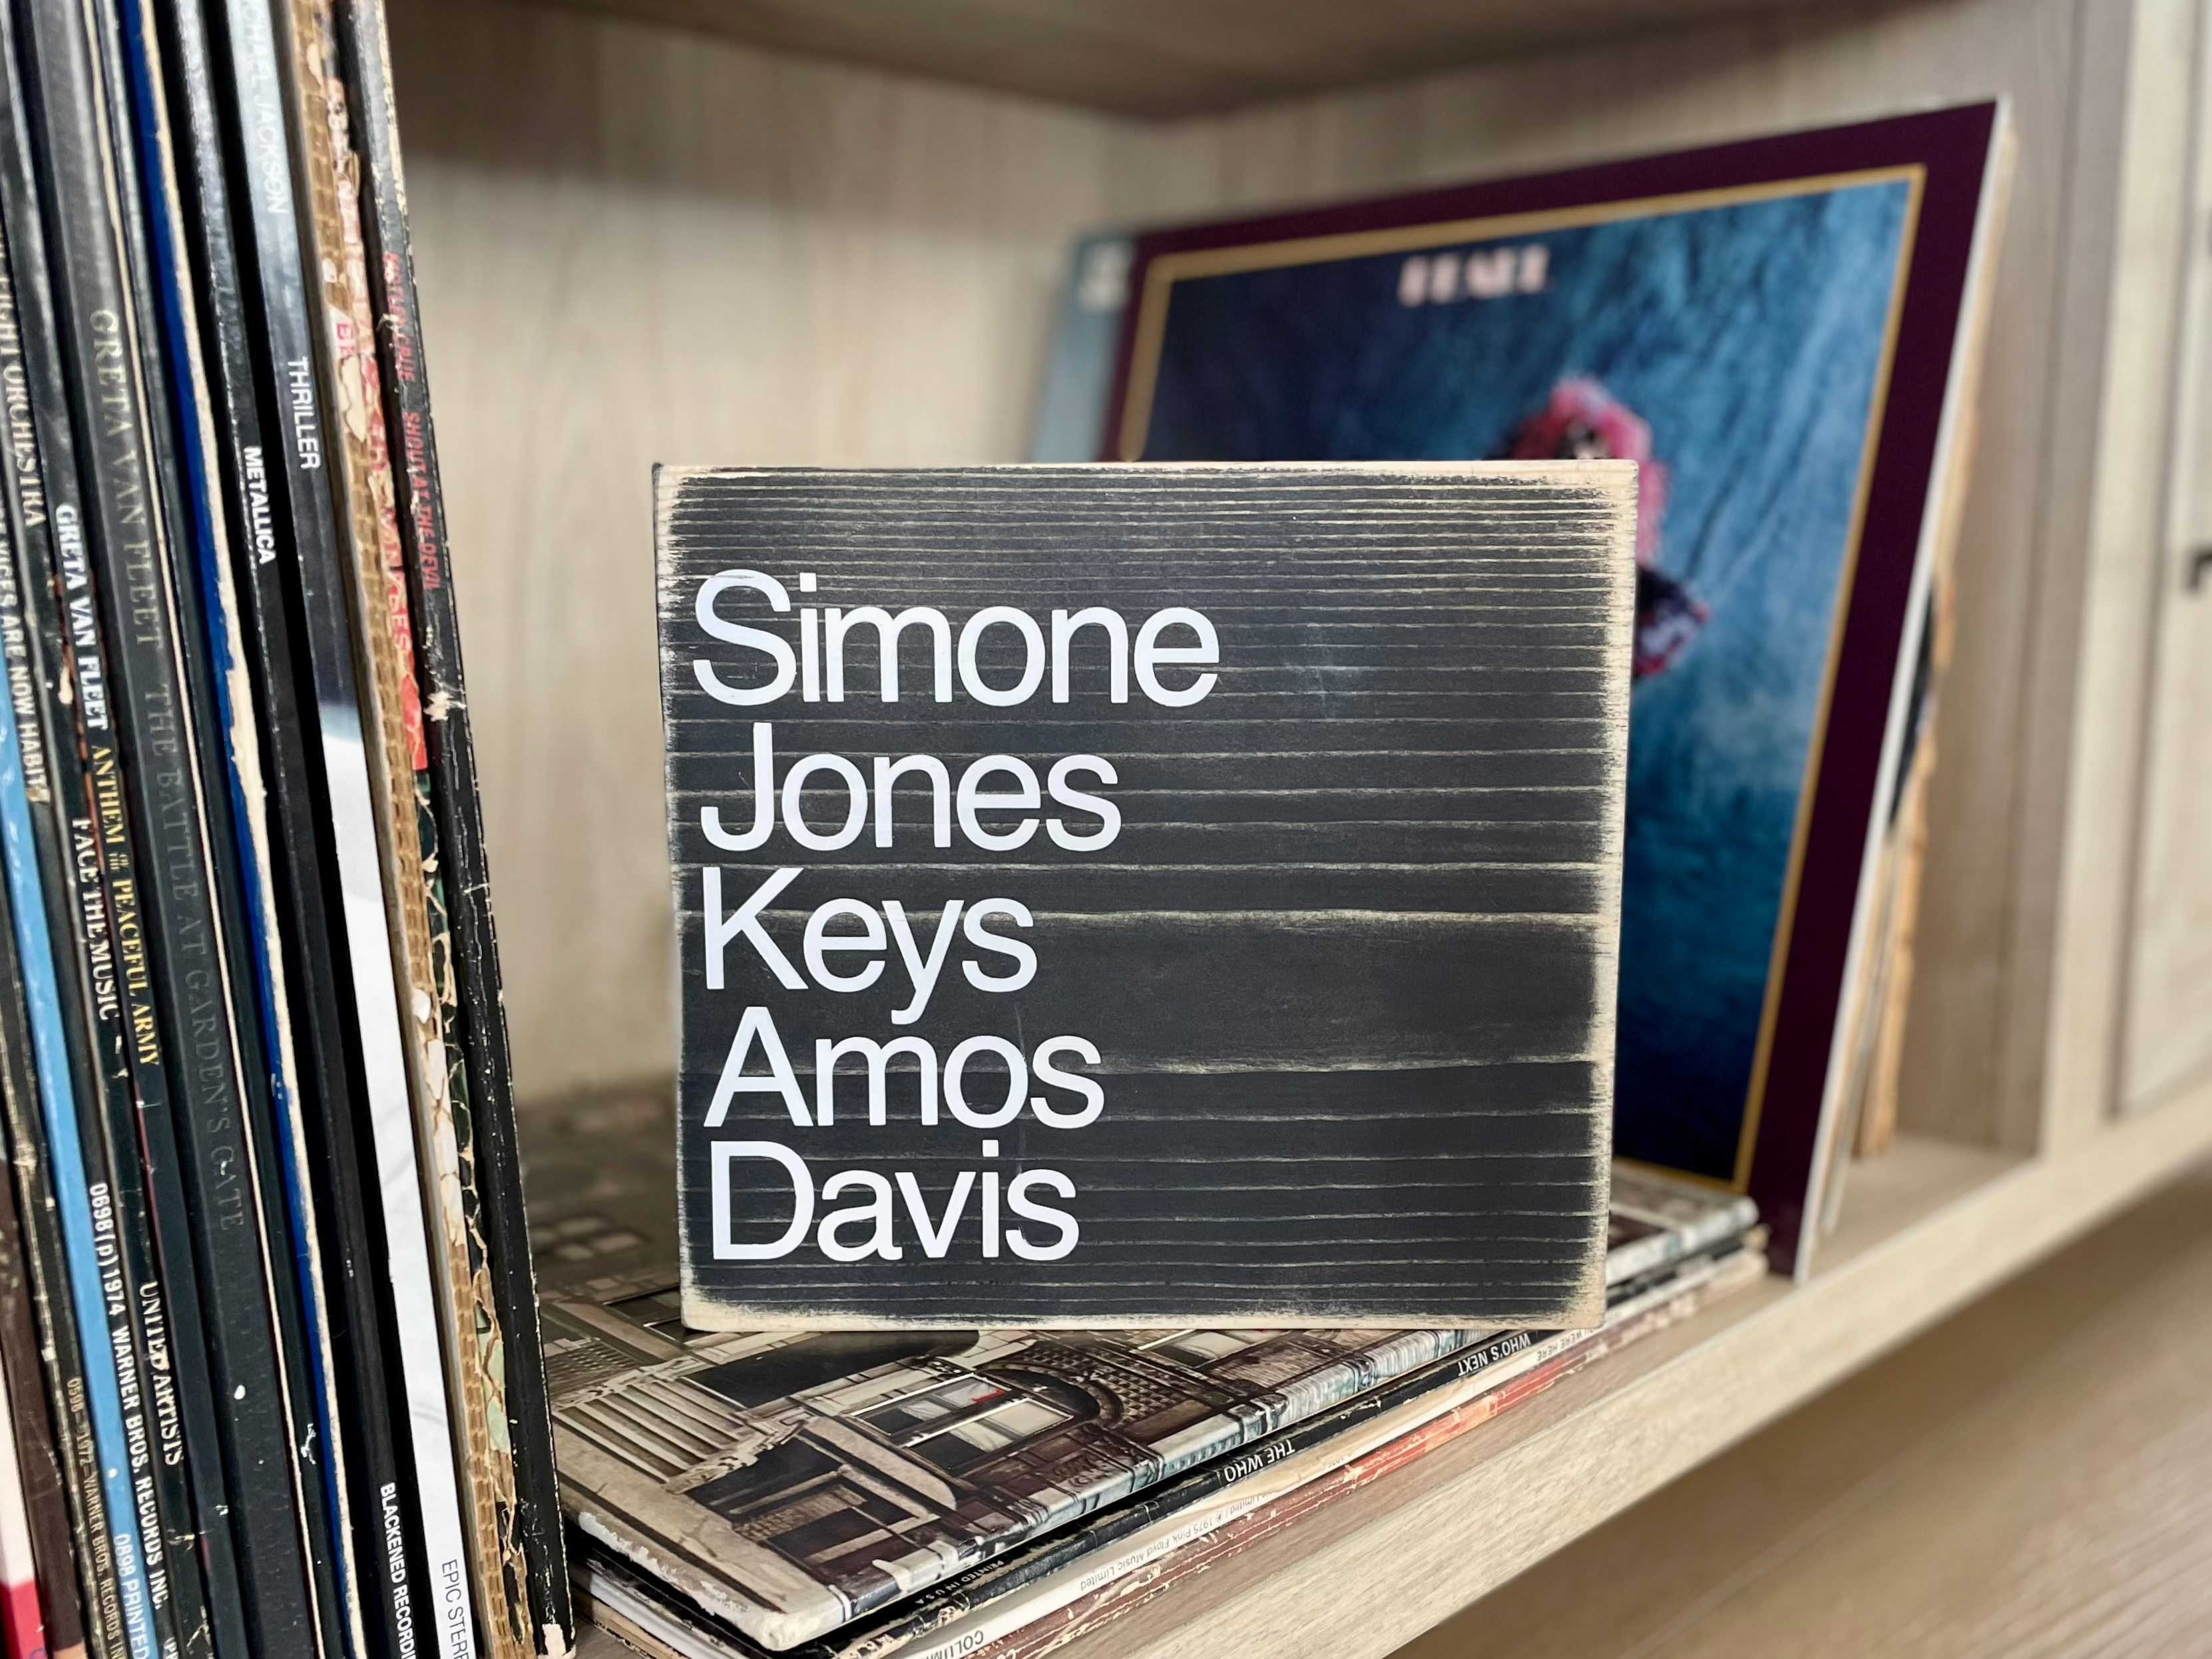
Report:
[[[672,1053],[653,462],[1018,460],[1082,230],[2011,100],[1898,1150],[1851,1172],[1812,1283],[1071,1652],[1387,1652],[2212,1150],[2197,0],[392,22],[524,1099]]]

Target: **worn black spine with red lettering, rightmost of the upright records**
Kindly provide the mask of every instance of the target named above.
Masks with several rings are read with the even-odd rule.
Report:
[[[522,1155],[515,1144],[513,1068],[500,998],[500,942],[491,920],[491,874],[478,807],[469,688],[460,666],[460,615],[447,560],[445,498],[429,411],[429,372],[416,310],[414,250],[407,237],[407,181],[400,168],[398,113],[383,0],[338,0],[345,71],[367,161],[363,232],[376,347],[383,365],[385,429],[394,449],[400,542],[414,608],[422,730],[429,743],[431,801],[445,860],[445,920],[458,993],[458,1048],[473,1104],[476,1177],[482,1192],[498,1318],[507,1336],[507,1422],[515,1449],[515,1531],[529,1562],[531,1619],[542,1655],[575,1644],[575,1606],[562,1551],[560,1484],[553,1471],[553,1420],[546,1402],[544,1343],[538,1327],[538,1276],[522,1206]]]

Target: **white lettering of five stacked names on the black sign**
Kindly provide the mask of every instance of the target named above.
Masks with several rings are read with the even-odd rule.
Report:
[[[812,571],[796,577],[799,595],[816,593]],[[712,641],[690,672],[699,690],[734,708],[761,708],[796,697],[801,703],[845,701],[971,701],[984,708],[1018,708],[1031,701],[1068,703],[1104,699],[1144,701],[1157,708],[1190,708],[1217,686],[1221,639],[1212,619],[1190,606],[1166,606],[1144,617],[1124,617],[1108,606],[1077,611],[1029,611],[993,604],[967,617],[936,606],[898,613],[860,604],[794,604],[790,588],[763,571],[719,571],[699,582],[692,617]],[[748,619],[750,617],[750,619]],[[783,630],[759,626],[785,617]],[[796,622],[796,648],[787,637]],[[874,675],[847,661],[854,635],[876,646]],[[900,679],[900,644],[918,637],[927,646],[929,672],[911,684]],[[984,646],[1011,648],[1011,659],[984,677]],[[734,648],[734,650],[732,650]],[[1013,661],[1020,672],[1013,672]],[[874,679],[874,684],[865,684]],[[1011,854],[1040,836],[1062,852],[1104,852],[1121,834],[1121,810],[1099,794],[1119,783],[1102,754],[1062,754],[1033,763],[1018,754],[984,754],[958,768],[933,754],[799,754],[779,757],[776,730],[768,719],[752,723],[752,799],[699,807],[699,832],[710,847],[759,854],[790,845],[803,852],[836,852],[863,836],[876,847],[898,845],[894,803],[900,790],[929,803],[927,830],[905,834],[929,838],[931,847],[967,843],[991,854]],[[827,814],[823,803],[838,803]],[[807,816],[807,807],[816,816]],[[929,998],[958,956],[967,984],[987,993],[1011,993],[1040,973],[1037,949],[1020,938],[1035,925],[1020,900],[978,894],[949,898],[942,909],[909,911],[898,898],[821,898],[807,909],[799,960],[770,936],[763,916],[805,876],[805,865],[754,872],[699,872],[699,949],[708,991],[723,991],[754,975],[768,975],[785,991],[852,995],[891,978],[900,987],[891,1009],[894,1026],[911,1026],[929,1009]],[[750,891],[739,891],[750,883]],[[834,929],[834,931],[832,931]],[[732,953],[737,962],[732,962]],[[1051,1035],[1026,1051],[1006,1037],[980,1033],[940,1053],[918,1033],[818,1037],[814,1042],[812,1097],[799,1082],[790,1051],[765,1004],[748,1004],[730,1037],[721,1077],[708,1102],[703,1128],[728,1124],[739,1095],[779,1095],[792,1130],[827,1128],[836,1121],[838,1066],[865,1084],[872,1126],[889,1121],[887,1075],[894,1062],[911,1062],[920,1079],[920,1121],[933,1128],[949,1117],[971,1130],[995,1130],[1022,1113],[1053,1130],[1082,1130],[1106,1110],[1104,1086],[1077,1071],[1099,1064],[1088,1037]],[[993,1062],[991,1071],[975,1071]],[[1035,1084],[1044,1093],[1031,1093]],[[847,1113],[858,1102],[847,1091]],[[803,1137],[794,1137],[801,1139]],[[982,1157],[998,1157],[998,1141],[982,1141]],[[790,1183],[783,1232],[768,1243],[734,1237],[732,1166],[739,1159],[776,1166]],[[768,1139],[710,1139],[710,1225],[717,1261],[772,1261],[799,1250],[818,1250],[830,1261],[900,1261],[907,1248],[927,1259],[953,1250],[980,1250],[995,1259],[1011,1252],[1024,1261],[1057,1261],[1082,1241],[1077,1199],[1066,1172],[1029,1166],[1011,1181],[1000,1170],[960,1170],[938,1208],[920,1190],[911,1170],[836,1170],[816,1181],[799,1150]],[[1060,1199],[1048,1203],[1044,1194]],[[858,1199],[827,1208],[832,1199]],[[967,1225],[973,1203],[973,1228]],[[1009,1217],[1022,1225],[1009,1225]]]

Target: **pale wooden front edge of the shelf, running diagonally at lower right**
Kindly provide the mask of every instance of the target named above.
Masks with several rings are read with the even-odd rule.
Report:
[[[2212,1086],[1628,1349],[1062,1652],[1378,1659],[2208,1152]]]

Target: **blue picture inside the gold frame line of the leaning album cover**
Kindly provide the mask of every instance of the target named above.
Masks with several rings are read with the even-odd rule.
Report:
[[[1732,1186],[1918,188],[1882,168],[1139,272],[1126,460],[1644,462],[1615,1150]]]

